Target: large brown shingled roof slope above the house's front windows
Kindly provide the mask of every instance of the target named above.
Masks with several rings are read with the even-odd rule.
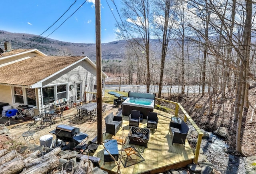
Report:
[[[86,57],[36,56],[0,67],[0,84],[31,87]]]

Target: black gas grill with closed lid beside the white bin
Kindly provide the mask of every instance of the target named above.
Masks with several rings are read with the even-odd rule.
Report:
[[[68,125],[58,125],[56,129],[50,131],[50,133],[56,135],[56,144],[58,140],[68,142],[65,149],[73,149],[80,144],[85,138],[88,138],[88,134],[80,132],[78,127],[72,127]]]

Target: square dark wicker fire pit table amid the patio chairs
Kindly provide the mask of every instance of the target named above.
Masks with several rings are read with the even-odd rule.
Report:
[[[128,134],[130,139],[129,144],[132,143],[148,147],[149,133],[149,129],[132,126]]]

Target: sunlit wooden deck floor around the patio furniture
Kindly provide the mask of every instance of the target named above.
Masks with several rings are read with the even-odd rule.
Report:
[[[106,115],[103,115],[103,117],[106,117],[110,112],[113,112],[116,114],[120,110],[119,108],[114,107],[112,104],[108,104],[106,108]],[[135,174],[135,173],[157,173],[157,172],[165,172],[167,170],[170,170],[172,168],[181,168],[186,166],[187,164],[192,164],[194,159],[194,153],[192,148],[190,147],[188,141],[186,140],[185,147],[182,144],[173,144],[172,145],[172,136],[169,133],[169,123],[170,123],[170,117],[172,115],[167,115],[166,113],[158,110],[154,110],[154,112],[158,112],[158,129],[153,130],[150,129],[150,139],[148,141],[148,147],[145,148],[144,146],[135,145],[135,144],[128,144],[129,138],[128,138],[128,132],[129,132],[129,121],[127,116],[123,116],[123,126],[120,128],[120,130],[117,132],[117,137],[122,137],[122,134],[124,134],[124,139],[126,140],[126,143],[124,144],[123,148],[134,146],[136,150],[142,155],[144,158],[144,161],[134,164],[132,166],[128,166],[124,168],[123,164],[120,163],[120,173],[127,173],[127,174]],[[31,144],[37,144],[40,145],[39,138],[45,134],[49,134],[49,132],[56,128],[57,125],[65,124],[65,125],[71,125],[74,127],[79,127],[81,132],[84,132],[89,135],[89,140],[94,139],[97,136],[97,121],[91,120],[86,121],[85,123],[82,123],[82,121],[75,122],[72,119],[74,118],[74,115],[76,114],[76,109],[70,109],[68,111],[64,111],[64,117],[65,120],[63,123],[61,123],[60,118],[57,118],[57,123],[55,125],[52,125],[50,127],[46,127],[43,130],[37,131],[34,134],[34,139],[36,140],[36,143],[33,140],[30,140]],[[30,121],[23,121],[22,118],[19,118],[17,121],[14,119],[10,119],[11,125],[8,126],[8,129],[10,129],[10,134],[13,136],[16,136],[20,140],[23,140],[23,137],[21,134],[23,132],[26,132],[29,127],[26,126],[27,123]],[[0,119],[0,123],[6,123],[8,121],[8,118],[3,117]],[[81,124],[82,123],[82,124]],[[103,119],[102,123],[102,131],[103,131],[103,141],[105,139],[111,139],[111,134],[105,135],[105,122]],[[143,120],[142,123],[140,123],[140,127],[146,128],[146,120]],[[55,136],[54,136],[55,138]],[[122,145],[118,145],[118,150],[120,150],[121,153]],[[124,152],[122,152],[123,154]],[[104,147],[102,145],[98,146],[97,151],[93,154],[93,156],[97,156],[98,158],[101,158],[100,160],[100,166],[103,170],[108,171],[109,173],[116,173],[118,171],[118,165],[115,162],[104,162]]]

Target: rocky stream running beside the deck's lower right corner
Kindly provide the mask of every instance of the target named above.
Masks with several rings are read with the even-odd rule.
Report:
[[[227,154],[228,144],[212,132],[207,132],[209,139],[203,139],[201,148],[207,160],[213,164],[215,170],[222,174],[245,174],[245,157]]]

